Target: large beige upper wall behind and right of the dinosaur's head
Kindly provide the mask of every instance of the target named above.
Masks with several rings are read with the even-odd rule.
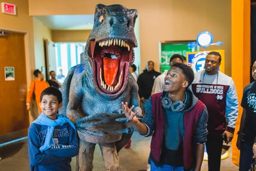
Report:
[[[93,14],[96,4],[121,4],[135,8],[140,16],[141,67],[155,61],[159,71],[159,41],[196,39],[201,31],[210,31],[222,46],[206,50],[225,50],[225,71],[231,75],[231,0],[29,0],[30,15]]]

